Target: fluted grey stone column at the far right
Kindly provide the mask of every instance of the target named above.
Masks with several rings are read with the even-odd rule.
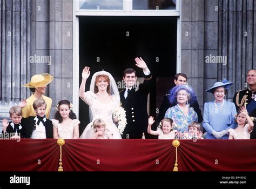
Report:
[[[218,53],[227,55],[227,65],[218,65],[218,79],[234,82],[228,91],[245,88],[246,72],[256,68],[256,1],[219,0]]]

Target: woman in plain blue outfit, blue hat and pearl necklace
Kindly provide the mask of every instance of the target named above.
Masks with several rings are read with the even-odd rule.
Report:
[[[203,126],[207,131],[206,139],[228,139],[228,129],[234,129],[235,105],[224,97],[232,82],[223,80],[215,83],[207,92],[211,92],[214,100],[204,104]]]

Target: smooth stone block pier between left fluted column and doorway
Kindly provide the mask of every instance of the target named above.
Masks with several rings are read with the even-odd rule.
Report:
[[[32,0],[32,55],[46,56],[50,63],[32,65],[32,74],[48,72],[54,77],[46,94],[52,98],[50,118],[59,100],[72,101],[73,1]]]

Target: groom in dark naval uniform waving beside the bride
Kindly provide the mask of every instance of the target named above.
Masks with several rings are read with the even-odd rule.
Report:
[[[120,100],[125,109],[127,125],[122,134],[123,139],[141,139],[143,133],[148,138],[147,125],[149,115],[147,114],[147,95],[150,93],[152,76],[144,60],[135,58],[136,66],[143,69],[144,82],[136,85],[137,75],[134,69],[124,71],[124,82],[126,89],[120,91]]]

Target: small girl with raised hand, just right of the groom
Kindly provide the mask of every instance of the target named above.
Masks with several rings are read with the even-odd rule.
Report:
[[[158,139],[175,139],[177,130],[173,130],[173,120],[170,118],[164,118],[159,123],[157,131],[151,130],[151,125],[154,123],[154,118],[149,117],[149,125],[147,126],[147,132],[152,135],[158,136]]]

